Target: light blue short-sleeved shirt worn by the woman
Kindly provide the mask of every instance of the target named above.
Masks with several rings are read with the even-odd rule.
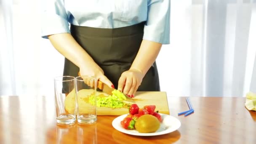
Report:
[[[146,21],[144,40],[170,43],[170,0],[43,0],[42,37],[70,33],[69,24],[119,28]]]

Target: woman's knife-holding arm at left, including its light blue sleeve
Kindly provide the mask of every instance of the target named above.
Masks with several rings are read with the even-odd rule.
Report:
[[[96,76],[111,86],[103,70],[70,35],[68,19],[64,0],[42,1],[41,36],[48,38],[57,51],[77,65],[81,75]]]

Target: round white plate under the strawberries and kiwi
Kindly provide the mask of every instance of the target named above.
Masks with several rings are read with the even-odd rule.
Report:
[[[181,122],[176,118],[172,117],[171,115],[160,114],[162,116],[163,122],[160,125],[160,128],[155,133],[139,133],[136,130],[126,130],[122,127],[121,121],[127,116],[128,114],[121,115],[115,118],[112,121],[112,126],[122,133],[131,134],[134,136],[158,136],[166,133],[171,133],[176,131],[180,126]]]

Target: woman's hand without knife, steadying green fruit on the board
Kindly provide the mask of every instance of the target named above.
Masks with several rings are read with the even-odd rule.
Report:
[[[123,72],[118,81],[118,90],[129,97],[134,97],[143,77],[144,75],[138,69],[129,69]]]

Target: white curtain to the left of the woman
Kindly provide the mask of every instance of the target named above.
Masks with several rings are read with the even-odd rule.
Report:
[[[39,0],[1,0],[0,95],[53,95],[64,58],[40,37]]]

